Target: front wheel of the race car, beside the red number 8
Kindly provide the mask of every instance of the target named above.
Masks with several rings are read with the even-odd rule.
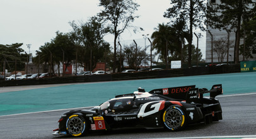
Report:
[[[86,120],[79,114],[72,114],[67,119],[67,132],[72,136],[83,136],[87,130]]]

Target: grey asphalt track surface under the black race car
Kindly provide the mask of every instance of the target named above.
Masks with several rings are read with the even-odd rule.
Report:
[[[214,136],[246,136],[256,138],[256,93],[217,97],[223,108],[223,120],[209,125],[189,125],[183,131],[116,130],[92,133],[81,138],[214,138]],[[62,111],[0,116],[0,138],[72,138],[52,136]]]

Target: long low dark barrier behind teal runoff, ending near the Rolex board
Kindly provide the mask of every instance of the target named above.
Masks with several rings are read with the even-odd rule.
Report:
[[[67,77],[52,77],[45,79],[29,79],[16,81],[0,81],[0,86],[28,86],[39,84],[64,84],[76,82],[102,82],[102,81],[122,81],[135,79],[154,79],[163,77],[180,77],[189,75],[206,75],[206,74],[225,74],[232,72],[240,72],[240,64],[221,65],[212,67],[192,67],[187,69],[170,69],[170,70],[154,70],[134,73],[116,73],[104,75],[79,75]]]

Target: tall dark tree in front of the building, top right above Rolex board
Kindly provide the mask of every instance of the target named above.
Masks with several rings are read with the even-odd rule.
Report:
[[[241,21],[244,22],[252,18],[252,6],[255,6],[252,0],[221,0],[221,4],[210,3],[207,5],[207,26],[223,30],[236,30],[235,64],[239,63]]]

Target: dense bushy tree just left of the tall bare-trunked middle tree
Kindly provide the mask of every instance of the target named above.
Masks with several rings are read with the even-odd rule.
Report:
[[[78,47],[79,64],[86,70],[94,69],[96,63],[103,59],[104,53],[110,52],[109,43],[103,40],[109,29],[104,28],[96,16],[86,23],[77,24],[73,21],[70,25],[73,27],[71,36],[74,44],[81,46]]]

